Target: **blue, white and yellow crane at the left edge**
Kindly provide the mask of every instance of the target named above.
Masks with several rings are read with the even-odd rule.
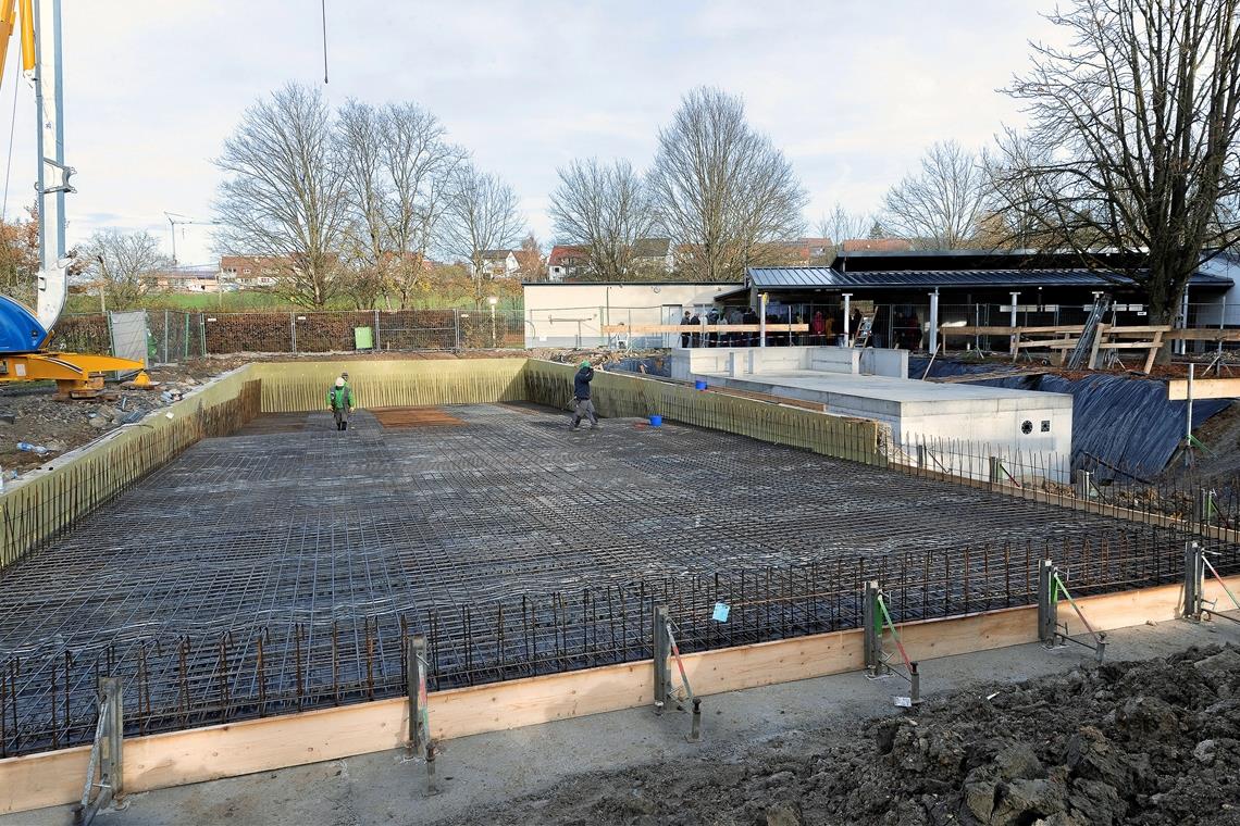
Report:
[[[38,120],[38,297],[31,311],[0,295],[0,381],[55,380],[61,398],[89,399],[103,393],[104,373],[136,370],[134,384],[149,386],[141,362],[46,349],[64,310],[72,263],[64,248],[64,196],[74,189],[69,185],[73,167],[64,165],[61,0],[0,0],[0,77],[19,24],[21,68],[33,84]]]

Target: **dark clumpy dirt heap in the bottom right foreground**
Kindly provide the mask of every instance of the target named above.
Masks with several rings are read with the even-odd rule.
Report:
[[[583,776],[454,822],[1240,824],[1240,651],[935,698],[852,732]]]

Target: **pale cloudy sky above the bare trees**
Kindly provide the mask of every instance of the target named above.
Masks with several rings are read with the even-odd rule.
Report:
[[[936,141],[988,142],[1017,123],[998,94],[1053,36],[1049,0],[326,0],[331,104],[413,100],[521,196],[552,240],[556,167],[625,156],[644,168],[681,95],[713,84],[792,161],[811,222],[839,201],[870,212]],[[0,87],[14,105],[16,42]],[[69,235],[208,219],[211,160],[246,107],[322,82],[319,0],[64,0]],[[17,88],[6,209],[32,201],[33,95]],[[7,136],[0,135],[7,150]],[[182,264],[215,261],[208,229]]]

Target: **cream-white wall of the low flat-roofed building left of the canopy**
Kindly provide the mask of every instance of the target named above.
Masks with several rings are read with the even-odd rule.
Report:
[[[668,313],[678,322],[711,307],[715,296],[739,284],[527,284],[525,285],[526,347],[606,347],[625,341],[634,347],[676,347],[675,334],[639,333],[613,337],[604,324],[662,324]]]

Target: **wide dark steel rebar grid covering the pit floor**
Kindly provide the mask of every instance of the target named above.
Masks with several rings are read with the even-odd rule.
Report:
[[[650,656],[656,602],[703,650],[857,627],[868,578],[906,622],[1029,603],[1045,555],[1081,594],[1182,573],[1167,529],[714,431],[451,414],[259,419],[0,575],[0,754],[88,739],[105,675],[148,733],[399,693],[410,633],[448,687]]]

